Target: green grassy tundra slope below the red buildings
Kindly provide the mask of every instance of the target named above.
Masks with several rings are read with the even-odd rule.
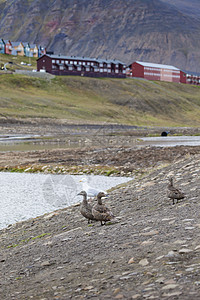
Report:
[[[199,126],[200,87],[142,79],[0,76],[0,117]]]

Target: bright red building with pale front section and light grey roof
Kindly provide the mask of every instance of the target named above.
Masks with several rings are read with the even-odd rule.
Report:
[[[129,65],[127,76],[147,80],[160,80],[186,83],[185,72],[174,66],[136,61]]]

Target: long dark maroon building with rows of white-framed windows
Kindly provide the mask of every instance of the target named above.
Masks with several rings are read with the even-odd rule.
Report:
[[[89,57],[43,55],[37,59],[37,70],[53,75],[89,77],[126,77],[126,65],[118,60]]]

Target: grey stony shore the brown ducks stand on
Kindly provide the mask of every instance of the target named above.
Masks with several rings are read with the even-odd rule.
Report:
[[[63,151],[51,160],[41,155],[40,163],[67,159]],[[1,299],[199,299],[199,148],[141,151],[102,156],[129,172],[148,169],[105,200],[112,223],[88,225],[75,205],[1,230]],[[7,155],[20,163],[21,154]],[[26,165],[34,156],[24,155]],[[74,165],[102,163],[89,150],[74,157]],[[175,205],[167,198],[169,176],[186,194]]]

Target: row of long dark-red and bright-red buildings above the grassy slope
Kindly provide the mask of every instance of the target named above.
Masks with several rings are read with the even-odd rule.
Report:
[[[137,77],[146,80],[200,85],[200,74],[186,72],[170,65],[140,61],[127,66],[119,60],[44,54],[37,59],[37,71],[53,75]]]

